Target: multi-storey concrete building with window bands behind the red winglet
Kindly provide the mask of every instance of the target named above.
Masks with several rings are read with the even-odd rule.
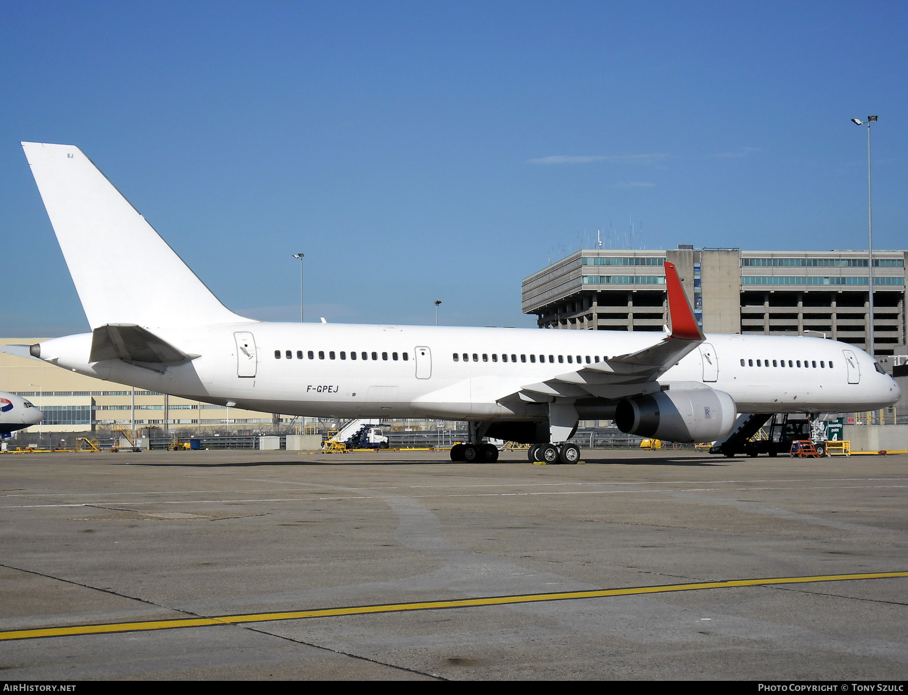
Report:
[[[905,344],[906,259],[873,251],[876,355]],[[822,334],[868,349],[867,260],[861,250],[579,250],[524,279],[521,308],[539,328],[659,331],[670,261],[706,332]]]

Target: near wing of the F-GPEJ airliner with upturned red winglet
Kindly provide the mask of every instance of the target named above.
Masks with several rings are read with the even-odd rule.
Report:
[[[528,384],[501,400],[546,402],[552,396],[622,398],[659,390],[658,377],[676,365],[706,337],[681,287],[674,263],[666,262],[668,320],[671,333],[637,352],[617,355],[604,362],[584,365],[536,384]]]

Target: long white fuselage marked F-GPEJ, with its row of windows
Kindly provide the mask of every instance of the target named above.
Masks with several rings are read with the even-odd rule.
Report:
[[[45,341],[41,357],[93,377],[263,412],[520,420],[546,413],[545,404],[509,397],[521,387],[575,372],[587,359],[601,366],[607,357],[661,338],[651,332],[266,322],[149,329],[200,357],[163,373],[119,360],[89,363],[92,334]],[[864,411],[901,396],[873,357],[822,338],[707,335],[658,381],[725,391],[738,412]],[[601,406],[603,399],[577,398],[581,417],[597,416],[602,408],[594,402]],[[584,403],[594,405],[584,410]]]

